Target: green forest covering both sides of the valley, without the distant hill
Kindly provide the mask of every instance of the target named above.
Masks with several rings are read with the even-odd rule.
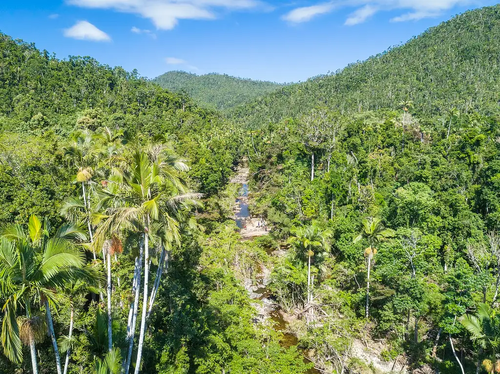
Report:
[[[2,35],[0,301],[17,303],[1,311],[2,346],[18,362],[23,343],[23,360],[0,356],[0,372],[32,373],[34,345],[40,373],[55,372],[57,337],[71,374],[119,370],[120,355],[151,374],[304,373],[301,355],[332,374],[497,373],[498,9],[250,101],[234,121]],[[272,228],[253,241],[229,220],[238,163]],[[40,238],[57,236],[12,234],[40,231],[32,214],[69,221],[86,262],[61,256],[57,284],[28,274],[23,293],[19,262],[41,264]],[[260,283],[298,349],[250,300]]]

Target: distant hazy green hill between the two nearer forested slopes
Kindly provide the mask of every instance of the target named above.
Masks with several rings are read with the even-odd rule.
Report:
[[[185,71],[168,71],[153,82],[171,91],[185,92],[199,104],[219,110],[241,105],[284,85],[227,74],[196,75]]]

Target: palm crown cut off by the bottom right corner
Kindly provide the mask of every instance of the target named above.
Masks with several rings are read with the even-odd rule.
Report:
[[[489,305],[481,303],[477,307],[477,314],[464,314],[460,323],[470,333],[470,339],[477,343],[481,352],[489,355],[482,361],[484,369],[490,373],[500,373],[500,360],[498,360],[498,346],[500,345],[500,315]],[[480,361],[479,354],[479,361]],[[479,368],[479,363],[477,365]]]

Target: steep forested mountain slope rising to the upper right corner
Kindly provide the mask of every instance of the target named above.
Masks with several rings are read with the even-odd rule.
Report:
[[[496,113],[500,90],[500,5],[466,11],[403,45],[329,75],[283,87],[232,112],[258,127],[324,105],[341,113],[395,108],[412,100],[422,114]]]

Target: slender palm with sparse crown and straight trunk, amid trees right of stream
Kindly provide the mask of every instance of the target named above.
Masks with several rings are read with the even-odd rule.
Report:
[[[368,247],[364,250],[364,257],[368,259],[367,264],[367,277],[366,277],[366,307],[365,307],[365,317],[368,318],[368,305],[369,305],[369,295],[370,295],[370,268],[371,259],[377,252],[378,244],[387,241],[389,238],[394,236],[394,230],[386,229],[382,225],[382,220],[380,218],[365,218],[363,220],[363,228],[361,233],[356,236],[353,243],[357,243],[361,239],[365,239],[368,242]]]

